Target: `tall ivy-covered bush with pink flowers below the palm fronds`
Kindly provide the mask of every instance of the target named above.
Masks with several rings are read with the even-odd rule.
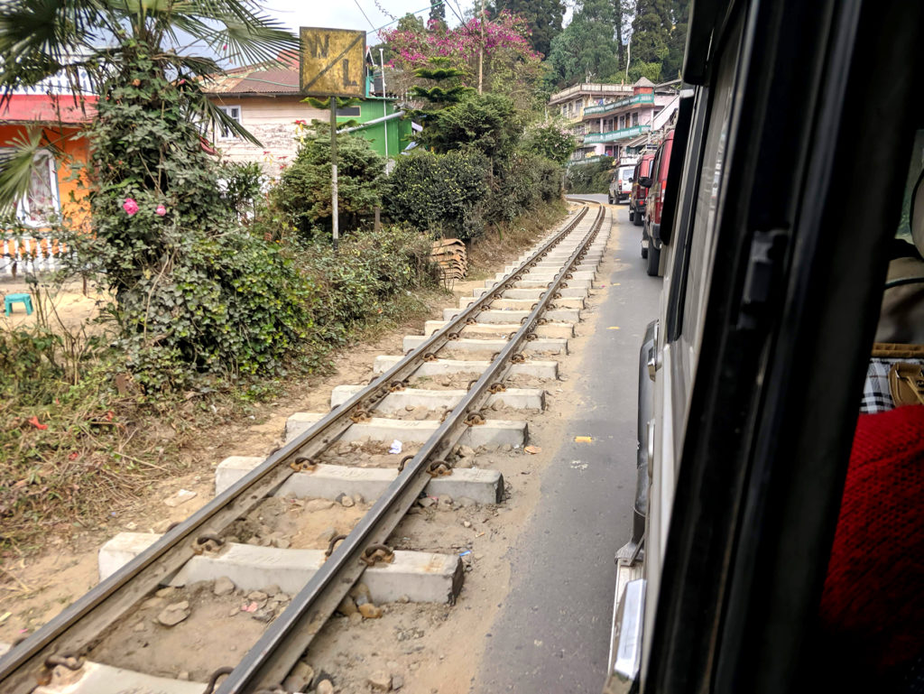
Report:
[[[272,372],[305,335],[309,287],[239,224],[259,180],[203,147],[185,93],[198,84],[167,79],[144,43],[124,50],[87,128],[92,221],[72,239],[80,270],[114,296],[116,347],[143,387]]]

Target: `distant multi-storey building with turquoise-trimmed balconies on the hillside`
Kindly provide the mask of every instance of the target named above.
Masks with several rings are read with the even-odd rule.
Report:
[[[573,162],[637,151],[667,124],[676,103],[674,89],[645,78],[631,85],[576,84],[549,100],[577,137]]]

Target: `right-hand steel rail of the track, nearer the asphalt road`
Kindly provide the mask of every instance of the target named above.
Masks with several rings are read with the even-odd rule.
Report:
[[[217,694],[244,694],[255,689],[272,690],[281,683],[309,648],[312,639],[334,614],[337,606],[359,580],[366,566],[359,561],[364,550],[384,543],[407,514],[430,481],[428,463],[433,458],[449,454],[468,426],[468,417],[490,396],[492,384],[502,381],[511,368],[511,359],[555,297],[555,292],[577,262],[584,258],[590,242],[597,236],[606,218],[601,205],[590,231],[577,246],[562,269],[541,295],[527,320],[492,360],[466,396],[456,405],[444,422],[432,434],[417,455],[407,463],[388,489],[359,520],[327,562],[298,592],[286,611],[263,632],[256,644],[245,653],[237,667],[227,676]]]

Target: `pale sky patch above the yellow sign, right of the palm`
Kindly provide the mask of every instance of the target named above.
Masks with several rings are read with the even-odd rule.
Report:
[[[471,5],[471,0],[446,2],[459,14]],[[421,10],[418,17],[424,19],[430,15],[430,0],[262,0],[261,5],[267,13],[286,23],[291,30],[298,30],[298,27],[327,27],[371,31],[408,12]],[[458,23],[449,6],[446,8],[446,20],[450,26]],[[368,41],[378,43],[378,38],[371,34]]]

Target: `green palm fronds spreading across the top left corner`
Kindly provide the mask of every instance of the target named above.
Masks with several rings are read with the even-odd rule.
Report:
[[[276,62],[296,50],[298,38],[253,0],[2,0],[0,103],[52,76],[67,79],[75,93],[89,80],[105,99],[128,67],[137,74],[143,54],[152,77],[183,85],[186,114],[203,132],[219,127],[259,144],[206,98],[201,80],[222,72],[214,55],[244,64]],[[33,155],[50,144],[19,138],[0,161],[0,210],[28,189]]]

